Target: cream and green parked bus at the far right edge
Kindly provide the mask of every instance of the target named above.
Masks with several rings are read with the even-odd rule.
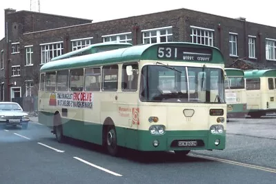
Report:
[[[276,69],[245,70],[248,115],[276,113]]]

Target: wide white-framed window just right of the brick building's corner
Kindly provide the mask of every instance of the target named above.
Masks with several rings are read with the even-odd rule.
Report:
[[[190,34],[192,43],[213,46],[215,30],[195,26],[190,26],[190,28],[192,29],[192,34]]]

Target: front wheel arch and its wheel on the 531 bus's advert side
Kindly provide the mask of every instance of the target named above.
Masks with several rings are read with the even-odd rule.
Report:
[[[117,156],[119,147],[117,145],[117,132],[114,122],[110,117],[103,123],[102,145],[112,156]]]

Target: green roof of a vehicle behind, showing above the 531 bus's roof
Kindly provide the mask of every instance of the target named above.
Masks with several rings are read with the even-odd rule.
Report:
[[[74,50],[72,52],[68,52],[66,54],[62,54],[58,57],[54,57],[51,59],[51,61],[57,61],[59,59],[66,59],[70,57],[78,57],[83,56],[86,54],[94,54],[97,52],[103,52],[107,50],[115,50],[118,48],[127,48],[131,47],[131,43],[115,43],[115,42],[104,42],[104,43],[95,43],[92,45],[88,45],[85,48],[80,48],[78,50]]]

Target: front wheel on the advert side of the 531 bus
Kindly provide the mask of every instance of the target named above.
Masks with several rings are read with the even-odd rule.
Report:
[[[115,126],[108,126],[106,131],[106,148],[112,156],[117,156],[119,147],[117,145],[117,134]]]

